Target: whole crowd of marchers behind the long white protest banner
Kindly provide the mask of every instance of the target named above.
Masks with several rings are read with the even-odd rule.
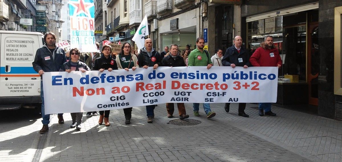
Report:
[[[225,53],[222,49],[216,50],[216,53],[209,58],[210,54],[204,48],[204,39],[199,37],[196,39],[197,48],[190,50],[190,46],[186,46],[186,50],[179,51],[179,46],[176,44],[170,45],[170,48],[166,46],[165,51],[159,53],[153,49],[152,40],[145,39],[145,47],[141,49],[138,55],[136,51],[131,48],[130,43],[123,43],[121,52],[117,55],[113,55],[112,47],[104,45],[101,52],[80,53],[79,49],[73,48],[64,52],[64,50],[55,45],[56,36],[52,32],[47,32],[44,35],[45,45],[39,48],[36,52],[34,62],[32,62],[33,68],[43,75],[44,72],[53,71],[81,71],[86,72],[88,70],[98,70],[103,72],[104,70],[112,71],[118,69],[124,69],[126,71],[135,70],[136,68],[153,67],[157,69],[159,66],[179,67],[179,66],[206,66],[210,69],[212,66],[241,66],[248,68],[251,66],[277,66],[281,67],[282,61],[277,48],[273,46],[273,37],[266,36],[265,42],[261,44],[255,52],[251,55],[249,51],[243,48],[241,36],[234,38],[234,45],[229,47]],[[96,42],[97,49],[100,50],[100,45]],[[50,123],[50,114],[44,113],[44,93],[43,83],[41,77],[41,113],[43,127],[39,133],[46,133],[49,131],[48,124]],[[225,111],[229,112],[229,104],[225,104]],[[146,106],[147,123],[152,123],[154,118],[154,109],[156,105]],[[177,103],[180,119],[188,118],[186,114],[184,103]],[[210,109],[209,103],[203,103],[204,111],[207,118],[214,117],[216,115]],[[243,117],[249,117],[245,113],[246,103],[239,103],[238,115]],[[172,118],[174,113],[174,103],[166,103],[167,117]],[[194,116],[200,116],[199,103],[193,103]],[[125,124],[130,124],[132,117],[132,108],[123,109],[125,115]],[[100,111],[100,118],[98,124],[109,126],[109,113],[110,110]],[[87,112],[86,116],[96,116],[97,112]],[[276,116],[271,111],[271,103],[259,103],[259,115]],[[71,113],[72,124],[70,128],[76,128],[81,130],[82,112]],[[58,114],[58,123],[64,124],[63,114]]]

